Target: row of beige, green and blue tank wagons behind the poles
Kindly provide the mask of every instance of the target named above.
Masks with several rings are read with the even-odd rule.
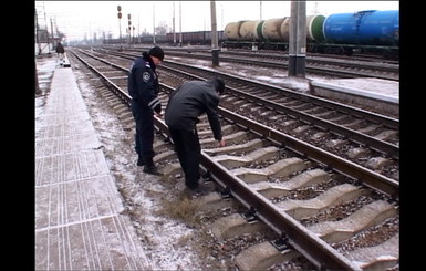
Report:
[[[225,48],[288,50],[290,17],[230,22]],[[354,51],[399,54],[399,11],[365,10],[306,17],[306,51],[352,55]]]

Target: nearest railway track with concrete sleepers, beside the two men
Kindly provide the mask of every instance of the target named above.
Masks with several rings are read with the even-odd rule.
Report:
[[[105,80],[122,104],[122,122],[132,131],[126,69],[71,52]],[[174,87],[162,84],[163,104]],[[215,148],[206,119],[197,126],[201,170],[217,192],[194,200],[201,217],[211,217],[206,228],[222,246],[238,236],[268,232],[235,248],[232,261],[240,270],[273,270],[297,261],[319,269],[397,269],[397,181],[231,110],[219,113],[227,147]],[[181,175],[163,119],[156,118],[156,128],[155,160],[163,181],[175,186]],[[206,215],[224,208],[226,215]]]

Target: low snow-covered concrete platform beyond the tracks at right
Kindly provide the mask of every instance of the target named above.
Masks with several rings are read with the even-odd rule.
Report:
[[[399,114],[399,82],[363,77],[314,80],[313,94]]]

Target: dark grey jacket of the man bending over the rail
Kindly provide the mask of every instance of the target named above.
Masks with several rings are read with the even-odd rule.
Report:
[[[172,93],[165,121],[170,128],[195,131],[198,116],[207,113],[215,139],[221,140],[218,105],[219,95],[214,81],[189,81]]]

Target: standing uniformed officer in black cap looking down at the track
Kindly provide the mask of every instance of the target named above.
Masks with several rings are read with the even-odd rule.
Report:
[[[162,116],[162,104],[158,98],[159,83],[157,65],[164,59],[164,51],[154,46],[148,53],[135,59],[128,73],[128,94],[132,96],[132,113],[136,123],[135,150],[138,155],[137,166],[143,171],[159,175],[154,165],[154,113]]]

